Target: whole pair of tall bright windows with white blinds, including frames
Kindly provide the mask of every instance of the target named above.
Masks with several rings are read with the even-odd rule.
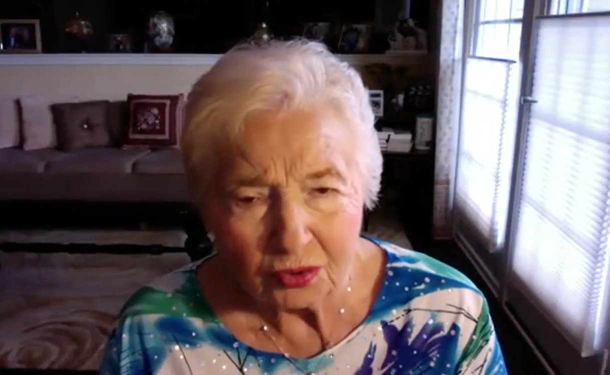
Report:
[[[610,358],[610,0],[527,12],[473,1],[456,240],[540,357],[598,375]]]

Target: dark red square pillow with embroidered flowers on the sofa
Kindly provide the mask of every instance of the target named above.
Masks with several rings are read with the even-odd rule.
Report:
[[[184,118],[184,95],[127,95],[129,130],[126,146],[178,148]]]

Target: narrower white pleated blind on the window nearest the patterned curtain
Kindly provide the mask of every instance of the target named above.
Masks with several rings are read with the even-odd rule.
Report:
[[[455,206],[491,252],[506,229],[514,152],[514,61],[469,57],[460,124]]]

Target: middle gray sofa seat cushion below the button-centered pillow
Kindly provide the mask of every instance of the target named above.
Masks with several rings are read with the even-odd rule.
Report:
[[[148,154],[143,149],[89,148],[66,152],[47,163],[51,173],[131,173],[135,160]]]

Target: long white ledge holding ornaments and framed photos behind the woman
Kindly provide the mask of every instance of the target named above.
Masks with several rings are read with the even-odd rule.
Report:
[[[0,54],[0,65],[214,65],[221,54]],[[337,55],[352,65],[426,62],[427,51]]]

